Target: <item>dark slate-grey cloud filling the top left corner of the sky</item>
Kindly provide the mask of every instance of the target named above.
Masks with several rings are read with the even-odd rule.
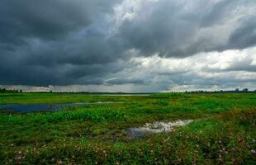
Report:
[[[0,42],[21,44],[27,37],[60,40],[70,31],[92,24],[110,2],[99,0],[2,0]]]

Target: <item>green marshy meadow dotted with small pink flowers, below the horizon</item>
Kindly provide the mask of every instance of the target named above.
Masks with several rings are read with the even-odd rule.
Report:
[[[255,94],[0,94],[2,105],[97,101],[116,103],[0,111],[0,164],[256,163]]]

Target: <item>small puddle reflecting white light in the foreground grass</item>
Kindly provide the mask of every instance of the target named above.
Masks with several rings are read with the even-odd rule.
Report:
[[[174,127],[184,126],[191,123],[193,120],[176,120],[171,122],[160,122],[146,123],[144,126],[139,128],[130,128],[128,134],[132,137],[140,137],[145,134],[159,134],[172,132]]]

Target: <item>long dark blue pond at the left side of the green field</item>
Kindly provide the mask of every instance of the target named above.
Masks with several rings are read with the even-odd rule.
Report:
[[[17,111],[22,113],[36,112],[36,111],[59,111],[67,106],[82,106],[88,104],[109,104],[115,103],[112,101],[107,102],[84,102],[84,103],[66,103],[66,104],[6,104],[0,105],[0,110],[3,111]]]

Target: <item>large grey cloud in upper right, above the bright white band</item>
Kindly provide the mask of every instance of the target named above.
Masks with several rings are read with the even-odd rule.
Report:
[[[126,19],[118,33],[121,38],[128,41],[127,45],[130,48],[140,50],[142,55],[184,57],[204,51],[228,50],[233,40],[239,40],[237,38],[239,35],[243,35],[242,40],[245,42],[232,44],[232,49],[244,49],[255,45],[254,35],[250,36],[250,32],[246,31],[248,28],[255,29],[254,24],[247,29],[239,27],[232,36],[229,36],[229,32],[220,34],[220,31],[214,29],[216,26],[225,26],[226,29],[235,26],[230,22],[236,18],[235,13],[246,12],[247,7],[253,7],[256,10],[254,1],[179,2],[162,0],[145,2],[144,5],[147,9],[138,12],[134,19]],[[256,12],[249,15],[255,17]],[[235,23],[242,26],[243,21],[240,20],[242,19]],[[203,31],[206,30],[211,30],[211,34],[203,35]],[[246,35],[241,34],[244,30],[247,32]],[[230,37],[229,43],[225,42],[223,35],[225,38]],[[213,40],[216,37],[219,40]]]

